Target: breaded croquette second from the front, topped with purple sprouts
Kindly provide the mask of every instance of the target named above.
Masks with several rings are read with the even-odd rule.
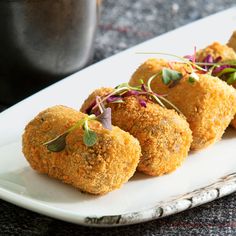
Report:
[[[95,90],[81,107],[85,112],[96,96],[112,92],[111,88]],[[191,130],[184,117],[146,100],[140,106],[136,96],[125,97],[123,103],[107,104],[112,109],[112,124],[136,137],[142,156],[138,170],[152,176],[174,171],[185,160],[192,142]],[[145,97],[142,97],[145,99]]]

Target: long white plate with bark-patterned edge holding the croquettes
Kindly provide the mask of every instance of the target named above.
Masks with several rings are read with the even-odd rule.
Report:
[[[21,152],[24,126],[56,104],[79,108],[95,88],[129,80],[148,55],[191,54],[213,41],[227,42],[236,25],[236,8],[212,15],[92,65],[27,98],[0,114],[0,198],[61,220],[83,225],[116,226],[156,219],[212,201],[236,190],[236,131],[228,129],[216,145],[191,153],[174,173],[135,176],[105,196],[82,194],[39,175]],[[220,26],[220,27],[216,27]],[[223,27],[221,27],[223,26]]]

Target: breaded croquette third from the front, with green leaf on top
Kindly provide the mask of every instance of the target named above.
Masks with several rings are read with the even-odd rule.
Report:
[[[181,72],[180,64],[174,63],[172,66]],[[132,75],[130,85],[137,86],[140,79],[146,83],[163,67],[169,67],[168,61],[147,60]],[[152,81],[151,87],[156,93],[166,94],[166,98],[186,116],[193,133],[192,150],[205,148],[220,140],[236,113],[234,89],[210,75],[199,74],[199,80],[190,83],[189,75],[186,74],[174,87],[165,85],[157,77]]]

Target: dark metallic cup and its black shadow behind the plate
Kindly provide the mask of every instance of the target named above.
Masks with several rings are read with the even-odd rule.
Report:
[[[96,0],[0,0],[0,103],[11,104],[91,59]]]

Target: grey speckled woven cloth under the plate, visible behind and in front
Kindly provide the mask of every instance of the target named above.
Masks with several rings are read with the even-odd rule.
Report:
[[[104,0],[93,62],[235,3],[235,0]],[[4,109],[1,104],[0,109]],[[65,223],[5,201],[0,201],[0,212],[0,235],[236,235],[236,194],[168,218],[106,229]]]

